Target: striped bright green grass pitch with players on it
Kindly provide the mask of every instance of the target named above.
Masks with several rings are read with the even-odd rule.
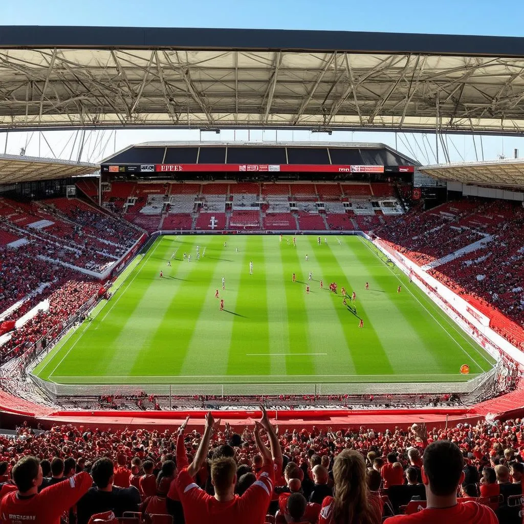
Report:
[[[343,305],[343,286],[356,292],[356,313]],[[296,247],[292,236],[162,236],[113,289],[37,376],[61,384],[430,382],[465,380],[462,364],[471,378],[495,362],[358,236],[322,236],[318,245],[299,235]]]

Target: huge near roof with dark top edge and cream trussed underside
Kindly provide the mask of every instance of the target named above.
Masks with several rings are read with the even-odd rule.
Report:
[[[524,38],[0,26],[0,128],[521,133]]]

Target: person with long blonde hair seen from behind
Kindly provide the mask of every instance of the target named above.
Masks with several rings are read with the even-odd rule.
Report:
[[[322,502],[318,524],[379,524],[381,510],[369,496],[364,457],[344,450],[335,457],[335,496]]]

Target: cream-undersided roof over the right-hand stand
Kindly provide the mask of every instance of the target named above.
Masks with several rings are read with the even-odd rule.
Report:
[[[524,158],[438,164],[421,167],[419,171],[452,182],[524,187]]]

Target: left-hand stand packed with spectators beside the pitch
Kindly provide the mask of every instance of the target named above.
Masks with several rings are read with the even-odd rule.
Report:
[[[63,198],[0,199],[0,232],[0,323],[14,327],[34,311],[9,330],[0,362],[58,335],[63,322],[103,287],[93,277],[115,266],[142,236],[88,203]]]

